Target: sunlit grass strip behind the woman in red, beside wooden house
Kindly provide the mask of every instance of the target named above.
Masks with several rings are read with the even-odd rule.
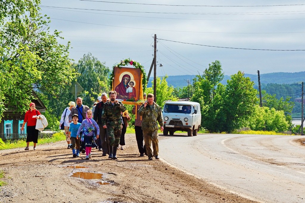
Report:
[[[58,142],[58,141],[63,141],[63,140],[66,140],[66,136],[63,134],[63,132],[58,132],[58,133],[55,133],[50,138],[38,139],[38,145],[50,143],[50,142]],[[10,140],[7,140],[6,142],[4,142],[0,145],[0,150],[14,149],[14,148],[26,147],[26,146],[27,146],[27,143],[25,142],[25,140],[17,140],[17,141],[13,141],[13,142],[10,142]],[[33,146],[33,142],[30,142],[30,146]]]

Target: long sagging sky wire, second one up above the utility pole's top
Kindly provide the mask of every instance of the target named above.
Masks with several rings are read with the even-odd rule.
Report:
[[[48,9],[56,9],[49,8]],[[56,9],[63,11],[74,11],[68,9]],[[119,15],[119,14],[110,14],[110,13],[97,13],[97,12],[86,12],[86,11],[74,11],[74,12],[83,12],[83,13],[94,13],[101,15],[110,15],[110,16],[128,16],[128,17],[139,17],[139,18],[152,18],[152,19],[177,19],[177,20],[213,20],[213,21],[267,21],[267,20],[304,20],[305,18],[296,18],[296,19],[192,19],[192,18],[165,18],[165,17],[150,17],[150,16],[130,16],[130,15]],[[284,12],[284,11],[283,11]],[[287,11],[287,12],[296,12],[296,11]]]

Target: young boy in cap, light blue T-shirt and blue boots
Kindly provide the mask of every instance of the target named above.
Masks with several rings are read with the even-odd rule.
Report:
[[[73,153],[73,157],[78,157],[79,156],[79,150],[81,149],[81,144],[80,144],[80,138],[77,136],[77,131],[78,128],[81,126],[81,123],[77,122],[78,121],[78,115],[73,114],[72,115],[72,121],[73,123],[70,123],[70,140],[71,140],[71,149]]]

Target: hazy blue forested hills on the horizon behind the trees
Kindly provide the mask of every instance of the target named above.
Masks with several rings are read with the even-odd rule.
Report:
[[[258,90],[258,76],[252,74],[245,74],[245,77],[249,77],[254,82],[254,88]],[[174,88],[183,88],[193,83],[195,75],[175,75],[168,76],[166,79],[167,84],[173,86]],[[224,79],[221,81],[222,84],[226,85],[227,80],[230,79],[229,75],[225,75]],[[261,89],[266,90],[268,94],[275,94],[278,99],[283,97],[291,97],[290,101],[294,102],[295,99],[301,98],[302,96],[302,82],[305,80],[305,71],[294,72],[294,73],[265,73],[260,74],[260,84]],[[152,86],[153,77],[149,78],[148,87]],[[304,89],[305,90],[305,89]],[[305,99],[305,98],[304,98]],[[301,103],[295,103],[292,114],[294,116],[301,114]]]

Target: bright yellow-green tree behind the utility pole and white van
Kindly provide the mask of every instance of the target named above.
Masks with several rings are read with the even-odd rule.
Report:
[[[174,87],[173,86],[168,86],[166,79],[167,75],[164,77],[157,77],[156,78],[156,103],[161,107],[163,107],[164,103],[166,100],[172,100],[172,101],[177,101],[178,98],[174,96]],[[152,81],[153,83],[153,81]],[[153,86],[153,84],[152,84]],[[146,89],[146,93],[152,93],[153,94],[153,89],[151,87]]]

